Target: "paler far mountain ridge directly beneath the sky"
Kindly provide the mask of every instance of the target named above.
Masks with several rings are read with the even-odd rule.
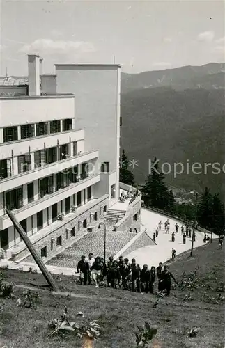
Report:
[[[209,63],[202,66],[184,66],[175,69],[121,74],[121,92],[142,88],[170,86],[174,90],[187,88],[225,88],[225,63]]]

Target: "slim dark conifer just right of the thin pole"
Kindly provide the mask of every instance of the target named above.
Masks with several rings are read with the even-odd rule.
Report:
[[[210,189],[208,189],[208,187],[205,187],[205,191],[201,197],[201,202],[199,203],[197,210],[197,216],[201,226],[208,228],[209,230],[212,228],[212,194],[210,193]]]

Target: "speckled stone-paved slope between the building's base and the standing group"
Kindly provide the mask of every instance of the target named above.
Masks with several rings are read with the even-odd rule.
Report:
[[[116,255],[118,251],[125,246],[136,234],[130,232],[109,232],[107,231],[107,248],[106,256]],[[89,233],[77,243],[68,247],[49,260],[47,264],[58,267],[77,267],[77,262],[81,255],[88,256],[88,253],[93,253],[94,257],[104,256],[104,232],[98,231]]]

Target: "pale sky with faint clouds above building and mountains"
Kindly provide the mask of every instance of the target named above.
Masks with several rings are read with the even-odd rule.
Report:
[[[138,73],[225,61],[224,1],[1,1],[0,75],[55,63],[118,63]],[[210,19],[211,18],[211,19]]]

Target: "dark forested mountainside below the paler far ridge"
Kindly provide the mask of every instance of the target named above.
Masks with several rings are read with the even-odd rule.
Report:
[[[139,161],[134,168],[139,184],[148,175],[148,159],[155,156],[171,166],[176,162],[187,164],[187,160],[191,165],[225,163],[223,89],[132,90],[121,95],[121,116],[121,149],[125,148],[130,159]],[[172,174],[166,175],[166,182],[197,191],[208,185],[213,191],[225,193],[224,175],[212,175],[208,168],[208,173],[201,175],[189,173],[176,179]]]

